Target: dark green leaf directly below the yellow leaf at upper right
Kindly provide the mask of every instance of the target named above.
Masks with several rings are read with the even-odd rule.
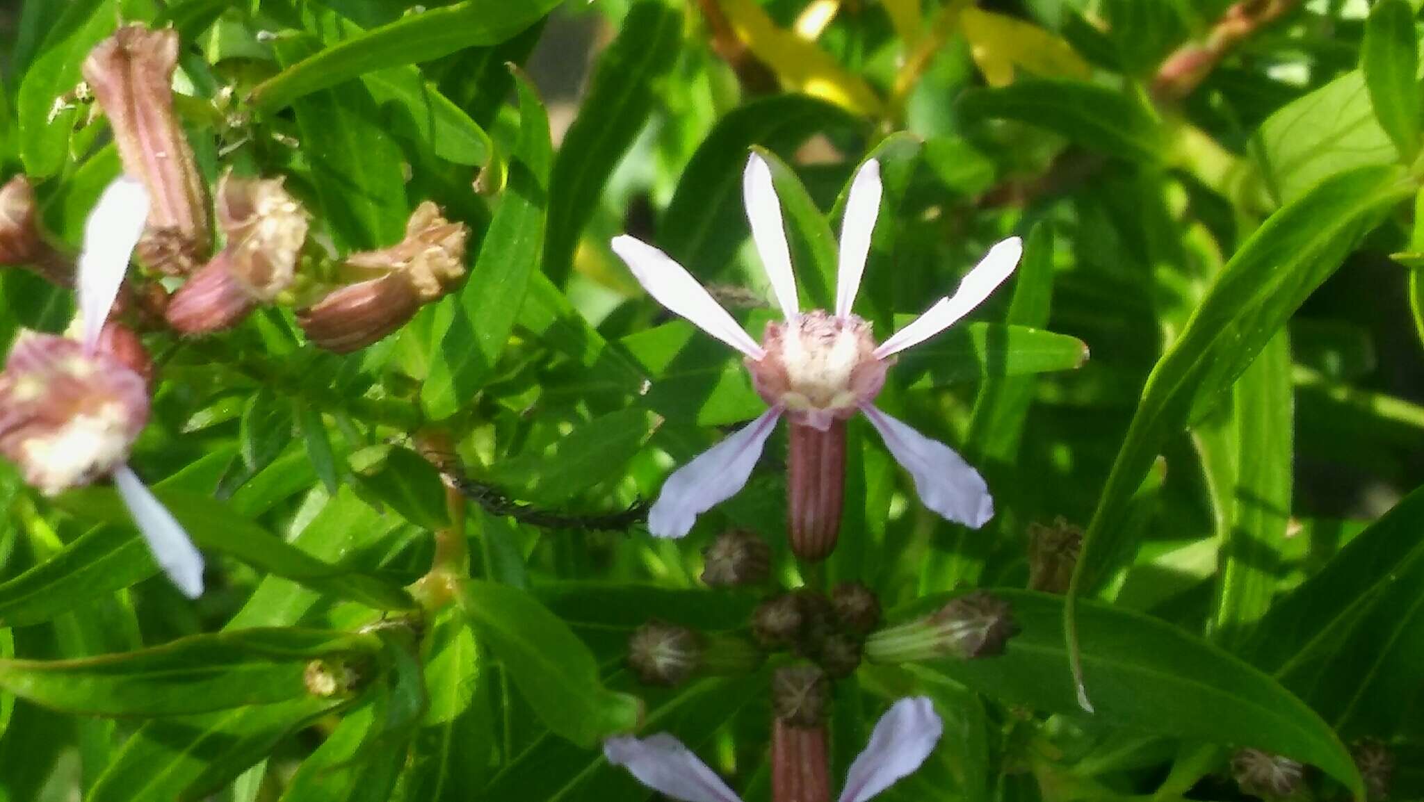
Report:
[[[1161,123],[1136,97],[1108,87],[1025,78],[997,90],[965,90],[956,108],[965,123],[1015,120],[1104,155],[1142,164],[1162,161]]]

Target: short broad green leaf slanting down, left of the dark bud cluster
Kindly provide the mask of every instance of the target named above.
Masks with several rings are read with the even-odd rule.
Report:
[[[638,725],[642,704],[604,688],[588,647],[534,597],[473,580],[460,604],[524,701],[554,734],[590,748]]]

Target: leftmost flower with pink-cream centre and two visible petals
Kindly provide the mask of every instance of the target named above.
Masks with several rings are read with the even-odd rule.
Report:
[[[202,594],[202,554],[125,464],[148,420],[148,382],[130,366],[134,343],[105,326],[148,208],[148,192],[132,178],[104,189],[78,261],[81,339],[21,332],[0,373],[0,453],[51,496],[112,476],[159,567],[195,598]]]

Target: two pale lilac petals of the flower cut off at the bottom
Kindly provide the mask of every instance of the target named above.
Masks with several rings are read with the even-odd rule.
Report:
[[[900,699],[870,734],[870,742],[850,764],[840,802],[866,802],[920,768],[940,741],[944,725],[924,697]],[[676,738],[617,736],[604,741],[604,756],[624,766],[638,782],[684,802],[740,802],[722,778]]]

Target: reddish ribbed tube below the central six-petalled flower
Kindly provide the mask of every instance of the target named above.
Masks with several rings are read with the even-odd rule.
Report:
[[[834,420],[824,432],[792,422],[786,467],[792,553],[813,563],[830,557],[840,536],[844,494],[846,422]]]

